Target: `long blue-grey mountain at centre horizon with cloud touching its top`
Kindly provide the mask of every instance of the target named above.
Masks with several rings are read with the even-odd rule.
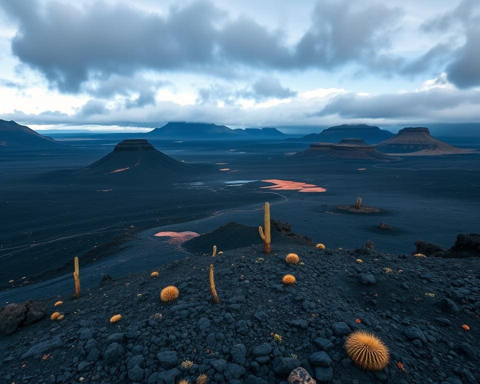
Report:
[[[168,122],[162,127],[146,133],[149,138],[269,138],[281,137],[283,133],[276,128],[231,129],[226,125],[204,122]]]

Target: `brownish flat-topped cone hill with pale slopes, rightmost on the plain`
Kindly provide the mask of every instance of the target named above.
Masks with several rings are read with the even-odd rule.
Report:
[[[437,140],[430,135],[428,128],[423,126],[406,127],[375,147],[386,153],[414,153],[414,154],[457,154],[471,153],[471,150],[461,149]]]

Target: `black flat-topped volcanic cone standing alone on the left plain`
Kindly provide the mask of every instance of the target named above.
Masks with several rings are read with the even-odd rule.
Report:
[[[165,177],[190,174],[195,169],[160,152],[145,139],[128,139],[116,144],[113,151],[74,176],[154,183]]]

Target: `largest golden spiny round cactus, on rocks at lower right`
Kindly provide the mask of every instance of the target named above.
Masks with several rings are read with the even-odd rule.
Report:
[[[345,350],[348,357],[365,370],[381,370],[390,358],[388,347],[365,330],[350,333],[345,341]]]

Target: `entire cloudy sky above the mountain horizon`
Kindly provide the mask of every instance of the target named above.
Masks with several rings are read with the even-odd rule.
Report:
[[[35,129],[478,122],[479,62],[478,0],[0,1],[0,118]]]

